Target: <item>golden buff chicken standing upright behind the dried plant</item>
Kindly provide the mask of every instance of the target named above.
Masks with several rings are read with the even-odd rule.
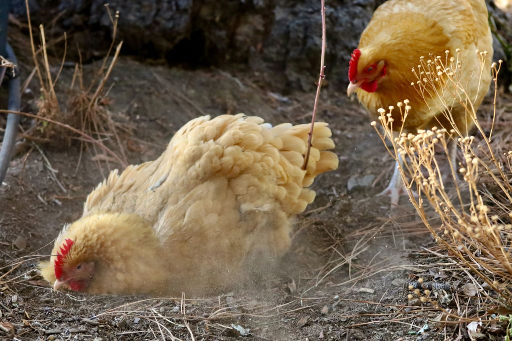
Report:
[[[481,79],[481,56],[477,50],[487,51]],[[474,123],[453,95],[445,94],[444,101],[454,103],[452,116],[456,127],[444,116],[440,99],[434,93],[422,98],[411,86],[416,81],[411,70],[419,64],[420,57],[432,54],[444,58],[445,51],[452,56],[458,51],[462,60],[460,79],[470,79],[467,92],[476,109],[492,80],[493,39],[485,0],[389,0],[375,10],[352,53],[347,95],[355,92],[373,117],[378,117],[379,108],[387,109],[408,99],[412,110],[404,122],[395,110],[394,129],[399,130],[402,123],[403,132],[411,133],[442,126],[447,131],[456,129],[467,135]],[[454,166],[456,147],[452,142]],[[393,205],[405,193],[398,171],[402,162],[399,158],[389,186],[381,193],[389,195]]]

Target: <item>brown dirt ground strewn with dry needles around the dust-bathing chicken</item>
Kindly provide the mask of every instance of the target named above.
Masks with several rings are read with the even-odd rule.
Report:
[[[95,65],[85,67],[87,74]],[[71,75],[72,69],[63,71],[60,97]],[[133,137],[123,141],[130,146],[130,163],[153,160],[177,129],[202,115],[244,112],[273,124],[310,120],[313,94],[284,97],[254,82],[250,74],[184,71],[121,58],[111,77],[109,108],[114,120],[134,127]],[[429,304],[409,303],[408,281],[450,280],[432,265],[439,257],[423,248],[433,238],[408,200],[402,198],[390,218],[389,199],[375,196],[393,161],[364,109],[327,87],[319,121],[333,130],[339,169],[315,181],[316,200],[297,219],[279,273],[216,297],[184,300],[55,292],[42,281],[33,256],[48,257],[62,225],[80,216],[86,195],[108,170],[102,163],[100,171],[88,153],[77,168],[78,145],[31,145],[14,158],[0,186],[0,339],[466,338],[463,326],[437,328]]]

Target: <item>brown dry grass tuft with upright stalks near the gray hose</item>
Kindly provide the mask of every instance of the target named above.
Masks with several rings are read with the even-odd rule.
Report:
[[[35,64],[27,84],[33,75],[37,75],[40,96],[37,100],[37,117],[39,119],[23,132],[23,137],[38,143],[56,143],[59,147],[63,144],[69,146],[73,140],[78,140],[81,144],[81,151],[90,151],[88,147],[91,146],[94,160],[98,162],[98,165],[100,161],[126,165],[126,155],[118,131],[124,130],[130,133],[131,129],[126,123],[115,122],[112,119],[113,115],[107,108],[110,88],[105,88],[122,47],[122,41],[117,46],[115,45],[119,13],[112,16],[108,6],[105,8],[113,25],[110,49],[92,79],[84,80],[81,62],[75,64],[66,101],[58,99],[55,90],[66,59],[68,48],[66,34],[63,39],[65,42],[64,53],[55,74],[52,72],[47,53],[44,27],[39,26],[40,49],[36,51],[30,13],[27,12],[32,58]],[[88,84],[86,85],[86,83]],[[61,124],[55,124],[55,122]],[[69,129],[69,127],[74,129]],[[90,138],[84,139],[82,134],[76,133],[76,130],[87,134]],[[94,143],[91,143],[91,140]],[[109,150],[116,150],[116,156],[112,157]]]

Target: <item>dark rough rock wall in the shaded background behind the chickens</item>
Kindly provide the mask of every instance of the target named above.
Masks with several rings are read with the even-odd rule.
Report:
[[[25,0],[13,0],[14,14],[26,18]],[[328,0],[327,79],[347,82],[348,60],[374,9],[382,0]],[[101,56],[112,25],[103,0],[30,0],[34,26],[47,34],[67,32],[68,46],[80,46],[82,58]],[[310,90],[319,70],[321,17],[319,0],[111,0],[119,10],[118,39],[123,53],[166,59],[186,67],[245,67],[273,88]],[[489,7],[501,32],[512,18]],[[50,29],[50,30],[49,30]],[[512,38],[504,33],[505,41]],[[508,40],[510,41],[510,40]],[[496,55],[509,58],[496,41]],[[74,55],[75,54],[75,55]],[[70,50],[70,58],[76,51]]]

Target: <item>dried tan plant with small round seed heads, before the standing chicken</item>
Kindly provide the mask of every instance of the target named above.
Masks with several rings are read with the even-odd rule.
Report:
[[[479,53],[481,72],[473,77],[481,79],[484,72],[491,72],[484,69],[486,55]],[[452,321],[482,319],[491,323],[497,321],[491,313],[496,307],[505,311],[512,309],[512,151],[510,145],[502,144],[508,139],[503,136],[497,141],[494,139],[501,61],[492,65],[494,104],[486,124],[477,119],[475,94],[470,94],[468,79],[461,76],[461,66],[458,52],[452,58],[448,52],[445,57],[422,58],[418,69],[414,70],[417,82],[411,85],[425,99],[436,96],[442,115],[452,124],[453,103],[446,98],[455,97],[476,126],[474,136],[464,136],[458,129],[447,131],[435,127],[418,130],[417,134],[401,133],[400,127],[393,127],[391,112],[399,110],[406,119],[411,110],[407,100],[398,103],[397,109],[380,109],[379,122],[384,132],[376,130],[383,142],[391,140],[392,156],[397,160],[400,154],[404,160],[400,173],[410,201],[438,244],[437,250],[429,252],[439,258],[448,257],[458,266],[458,276],[474,285],[475,291],[468,295],[466,304],[475,309],[468,310],[467,306],[464,309],[460,303],[455,310],[446,309],[438,298],[428,297],[429,290],[421,293],[417,288],[411,289],[423,295],[423,302],[430,301]],[[393,130],[399,132],[398,137],[393,136]],[[450,158],[451,143],[456,143],[462,151],[458,164]],[[441,152],[436,153],[439,149]],[[447,162],[448,167],[443,167],[443,162]]]

